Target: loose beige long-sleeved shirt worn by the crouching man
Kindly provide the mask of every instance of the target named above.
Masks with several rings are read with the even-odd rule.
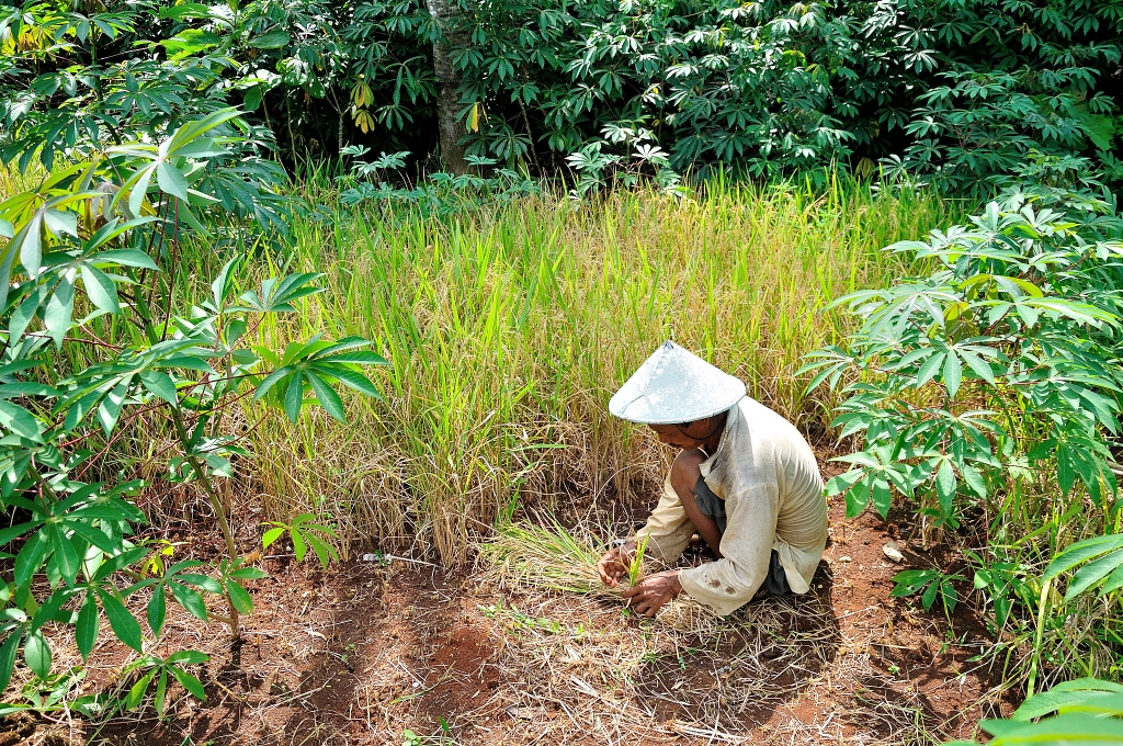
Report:
[[[714,494],[725,501],[723,558],[683,570],[683,590],[719,613],[732,613],[756,594],[779,553],[788,585],[806,593],[827,546],[827,500],[811,446],[786,419],[749,397],[729,410],[716,451],[701,465]],[[670,476],[638,536],[648,552],[675,562],[694,527]]]

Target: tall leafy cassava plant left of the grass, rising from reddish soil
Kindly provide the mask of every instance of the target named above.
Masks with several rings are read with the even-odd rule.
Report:
[[[218,200],[207,190],[236,157],[237,117],[222,109],[152,143],[86,143],[65,166],[27,172],[31,188],[0,203],[0,509],[8,524],[0,530],[0,691],[20,654],[36,677],[51,675],[48,625],[72,628],[88,658],[108,621],[141,656],[126,706],[155,681],[162,709],[170,675],[198,695],[202,688],[181,666],[202,654],[153,653],[168,601],[238,635],[239,617],[253,610],[245,582],[265,575],[239,553],[220,493],[235,461],[249,456],[231,406],[264,399],[295,420],[319,403],[343,418],[332,385],[377,394],[360,370],[384,361],[362,339],[314,336],[280,353],[255,344],[265,317],[295,312],[320,292],[317,274],[271,278],[239,293],[245,255],[237,253],[206,298],[189,303],[176,294],[173,278],[192,272],[182,243],[223,219],[208,212]],[[118,476],[139,437],[166,444],[156,456],[163,480],[210,504],[222,536],[216,558],[167,564],[166,542],[144,536],[145,515],[131,498],[146,484]],[[147,631],[130,610],[138,595]]]

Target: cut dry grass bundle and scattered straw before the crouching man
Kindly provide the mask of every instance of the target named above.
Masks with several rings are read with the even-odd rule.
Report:
[[[555,743],[581,734],[627,742],[611,733],[626,724],[748,743],[763,734],[747,733],[747,722],[797,695],[837,657],[838,625],[814,597],[770,599],[725,618],[685,595],[655,621],[614,612],[595,600],[613,595],[596,580],[599,553],[565,529],[526,526],[504,529],[482,552],[501,588],[547,593],[535,607],[505,610],[517,631],[502,662],[510,679],[535,682],[519,691],[519,707],[564,712],[548,734]],[[528,616],[541,619],[528,625]]]

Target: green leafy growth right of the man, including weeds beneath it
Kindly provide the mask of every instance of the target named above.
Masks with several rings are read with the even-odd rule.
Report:
[[[849,516],[869,504],[887,516],[895,495],[907,500],[925,543],[969,527],[992,630],[1033,644],[1020,662],[1031,689],[1042,664],[1104,671],[1123,649],[1112,617],[1092,613],[1085,636],[1068,616],[1090,613],[1081,592],[1119,564],[1117,538],[1101,535],[1121,517],[1123,220],[1094,183],[1046,165],[971,225],[888,247],[931,271],[840,299],[864,325],[806,367],[812,385],[848,394],[834,424],[861,446],[840,457],[851,470],[828,491],[846,494]],[[1061,553],[1085,537],[1090,546]],[[1098,555],[1057,597],[1061,576]],[[1117,575],[1101,595],[1117,595]],[[950,610],[962,580],[906,571],[894,594],[923,591],[925,607],[942,597]]]

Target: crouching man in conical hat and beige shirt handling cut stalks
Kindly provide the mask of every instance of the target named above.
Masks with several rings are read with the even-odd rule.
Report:
[[[679,453],[647,525],[601,558],[601,580],[618,584],[642,537],[647,553],[667,563],[695,533],[718,555],[626,590],[636,611],[654,617],[685,591],[728,615],[758,592],[810,590],[827,546],[827,501],[811,446],[791,422],[673,342],[620,388],[609,411],[650,426]]]

